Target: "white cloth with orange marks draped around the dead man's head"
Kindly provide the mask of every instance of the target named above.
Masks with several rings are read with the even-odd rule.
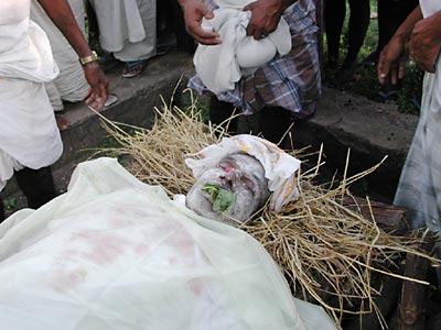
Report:
[[[300,161],[284,153],[276,144],[257,136],[240,134],[224,138],[220,143],[191,155],[196,158],[186,158],[185,164],[197,179],[222,158],[235,153],[249,154],[262,164],[265,177],[269,180],[268,188],[272,191],[271,209],[280,211],[284,205],[299,198],[295,175],[300,168]]]

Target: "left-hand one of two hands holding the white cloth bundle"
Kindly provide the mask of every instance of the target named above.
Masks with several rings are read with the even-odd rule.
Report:
[[[204,45],[220,44],[217,33],[204,31],[201,26],[203,18],[206,20],[214,18],[213,12],[204,3],[197,0],[178,0],[178,2],[184,13],[185,29],[196,42]]]

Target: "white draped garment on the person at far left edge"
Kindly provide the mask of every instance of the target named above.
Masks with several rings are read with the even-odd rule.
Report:
[[[30,0],[0,1],[0,190],[23,166],[53,164],[63,145],[43,82],[58,74]]]

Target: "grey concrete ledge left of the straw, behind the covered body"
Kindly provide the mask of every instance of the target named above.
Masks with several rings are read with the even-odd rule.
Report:
[[[106,118],[138,127],[151,127],[154,121],[154,107],[161,107],[161,96],[171,99],[180,79],[193,70],[191,57],[186,54],[172,53],[149,62],[143,74],[131,79],[122,79],[118,74],[108,75],[110,92],[118,97],[118,102],[101,110]],[[185,87],[185,81],[181,85]],[[99,147],[106,138],[96,113],[83,103],[68,105],[65,117],[72,125],[62,133],[64,154],[54,164],[60,168],[72,162],[85,158],[82,151]],[[84,152],[83,152],[84,153]],[[90,154],[86,152],[86,154]]]

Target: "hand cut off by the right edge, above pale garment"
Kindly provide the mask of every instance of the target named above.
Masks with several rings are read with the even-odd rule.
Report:
[[[420,69],[434,73],[441,46],[441,11],[415,24],[407,46]]]

